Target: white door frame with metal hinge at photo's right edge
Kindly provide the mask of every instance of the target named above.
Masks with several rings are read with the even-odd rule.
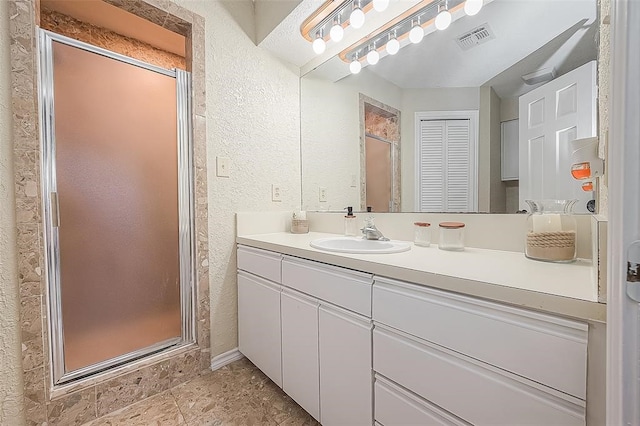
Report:
[[[640,424],[640,2],[615,0],[609,137],[607,424]],[[631,263],[631,264],[629,264]]]

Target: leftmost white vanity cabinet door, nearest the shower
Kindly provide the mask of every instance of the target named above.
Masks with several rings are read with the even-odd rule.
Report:
[[[282,387],[280,286],[238,272],[238,349]]]

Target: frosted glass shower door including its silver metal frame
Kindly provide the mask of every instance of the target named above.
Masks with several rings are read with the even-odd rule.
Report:
[[[194,341],[190,75],[40,30],[53,383]]]

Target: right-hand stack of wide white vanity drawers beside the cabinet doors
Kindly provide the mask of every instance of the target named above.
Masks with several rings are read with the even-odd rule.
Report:
[[[423,401],[419,412],[432,404],[477,425],[585,424],[586,324],[377,277],[373,306],[373,369]],[[382,424],[402,415],[385,410],[415,406],[377,383],[375,401]]]

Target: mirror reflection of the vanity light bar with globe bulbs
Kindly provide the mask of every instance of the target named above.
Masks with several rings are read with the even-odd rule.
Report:
[[[475,5],[475,9],[473,10],[475,13],[478,13],[477,10],[479,10],[477,7],[478,3],[480,3],[480,7],[482,7],[482,3],[488,3],[487,0],[425,0],[414,8],[409,9],[403,15],[390,21],[387,25],[379,28],[374,33],[343,50],[339,56],[347,63],[356,60],[354,58],[358,58],[358,61],[363,61],[363,59],[367,57],[367,54],[373,49],[373,46],[375,46],[376,50],[380,53],[389,50],[389,52],[386,53],[393,55],[397,52],[397,49],[409,44],[407,39],[409,39],[411,30],[414,29],[414,27],[421,28],[424,31],[426,27],[434,25],[440,13],[452,14],[462,8],[465,8],[466,11],[468,9],[466,3],[469,2],[473,2]],[[414,29],[414,32],[417,32],[416,29]],[[393,42],[390,49],[387,49],[387,44],[390,40],[397,40],[399,45]],[[414,43],[419,43],[421,40],[422,37],[411,37],[411,41]]]

